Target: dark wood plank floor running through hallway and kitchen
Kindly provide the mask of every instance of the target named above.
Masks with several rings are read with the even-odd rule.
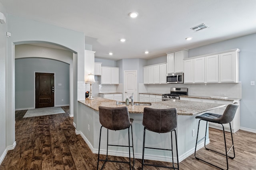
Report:
[[[16,147],[9,150],[0,170],[95,170],[97,154],[93,154],[80,135],[75,134],[73,119],[66,113],[22,118],[25,111],[16,112]],[[230,133],[226,133],[230,137]],[[229,159],[230,170],[256,169],[256,134],[238,131],[233,134],[236,158]],[[210,129],[209,147],[224,147],[222,131]],[[230,142],[230,141],[229,141]],[[103,155],[101,155],[103,158]],[[225,158],[200,149],[198,157],[211,160],[225,168]],[[113,157],[128,160],[123,157]],[[148,161],[152,163],[154,161]],[[166,164],[166,162],[157,162]],[[167,165],[171,165],[168,163]],[[126,170],[127,164],[107,163],[105,170]],[[135,160],[135,170],[141,169],[141,160]],[[145,170],[163,170],[145,166]],[[180,162],[180,170],[216,170],[213,166],[196,160],[194,155]]]

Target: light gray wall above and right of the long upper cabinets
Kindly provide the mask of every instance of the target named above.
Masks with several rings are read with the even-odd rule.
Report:
[[[188,57],[236,48],[241,50],[239,54],[239,72],[242,82],[240,126],[256,131],[256,86],[250,86],[250,81],[256,81],[256,34],[190,49]]]

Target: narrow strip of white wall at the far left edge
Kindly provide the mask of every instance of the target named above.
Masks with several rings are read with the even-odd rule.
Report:
[[[7,15],[0,2],[0,12]],[[0,23],[0,164],[7,153],[6,150],[6,31],[7,24]],[[2,158],[2,159],[1,159]]]

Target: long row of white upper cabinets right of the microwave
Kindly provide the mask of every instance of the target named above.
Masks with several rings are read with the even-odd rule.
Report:
[[[238,83],[239,49],[184,60],[184,83]]]

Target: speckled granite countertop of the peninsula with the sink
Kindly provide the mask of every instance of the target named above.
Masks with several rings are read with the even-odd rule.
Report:
[[[80,100],[78,101],[81,104],[95,110],[99,111],[99,106],[107,107],[123,107],[126,105],[116,105],[115,100],[94,97],[94,100]],[[135,102],[135,103],[146,103],[146,102]],[[129,113],[143,113],[144,107],[151,107],[155,109],[166,109],[173,108],[177,109],[178,115],[196,115],[199,113],[204,113],[212,109],[217,109],[224,107],[223,104],[212,104],[212,103],[201,103],[201,102],[192,102],[185,100],[168,100],[162,102],[152,102],[151,106],[127,106]]]

